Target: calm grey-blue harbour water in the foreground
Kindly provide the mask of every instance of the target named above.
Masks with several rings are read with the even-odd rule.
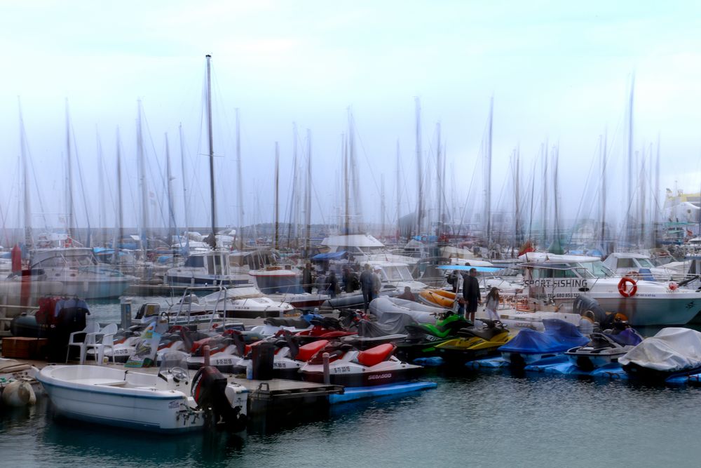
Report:
[[[701,388],[504,370],[426,378],[438,388],[258,422],[245,439],[93,427],[55,419],[44,399],[0,415],[0,466],[695,467],[701,458]]]

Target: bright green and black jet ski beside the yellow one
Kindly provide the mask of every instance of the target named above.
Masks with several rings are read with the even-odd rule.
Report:
[[[436,345],[458,337],[458,330],[472,326],[461,315],[448,310],[438,314],[435,325],[430,323],[411,323],[405,326],[406,339],[397,342],[397,357],[413,361],[419,357],[435,356]]]

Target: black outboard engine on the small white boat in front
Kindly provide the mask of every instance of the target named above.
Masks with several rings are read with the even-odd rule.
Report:
[[[225,426],[240,430],[245,427],[246,415],[240,408],[231,408],[226,398],[227,380],[214,366],[202,366],[192,380],[191,393],[197,406],[207,413],[207,422],[212,426]]]

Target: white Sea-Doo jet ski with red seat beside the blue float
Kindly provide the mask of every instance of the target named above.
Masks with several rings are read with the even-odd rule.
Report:
[[[408,364],[394,356],[396,345],[385,343],[360,351],[348,343],[332,342],[301,367],[299,372],[309,382],[324,382],[323,355],[329,353],[329,378],[334,385],[370,387],[404,382],[421,366]]]

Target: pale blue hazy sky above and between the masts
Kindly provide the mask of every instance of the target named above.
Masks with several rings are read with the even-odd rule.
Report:
[[[176,222],[184,225],[187,199],[188,224],[208,225],[205,54],[212,55],[219,226],[238,224],[236,109],[245,224],[273,220],[275,142],[280,218],[290,219],[294,124],[305,165],[311,132],[312,221],[337,221],[349,109],[363,219],[380,222],[384,185],[385,220],[395,222],[397,175],[400,215],[415,210],[415,98],[421,102],[423,168],[430,175],[441,126],[444,191],[453,213],[478,211],[484,203],[484,140],[494,99],[495,209],[509,209],[512,152],[519,149],[524,185],[536,173],[538,192],[538,155],[542,147],[557,147],[564,217],[592,212],[600,179],[592,161],[606,134],[608,210],[615,216],[629,205],[626,128],[633,76],[634,150],[656,154],[659,139],[661,188],[698,192],[701,186],[701,5],[694,1],[11,0],[0,1],[0,11],[0,162],[12,180],[0,187],[5,227],[23,222],[18,102],[33,167],[34,227],[59,228],[67,211],[66,102],[83,179],[75,180],[74,160],[77,224],[115,223],[119,128],[125,225],[137,225],[138,100],[152,222],[167,224],[167,133]],[[436,182],[426,183],[432,203]]]

